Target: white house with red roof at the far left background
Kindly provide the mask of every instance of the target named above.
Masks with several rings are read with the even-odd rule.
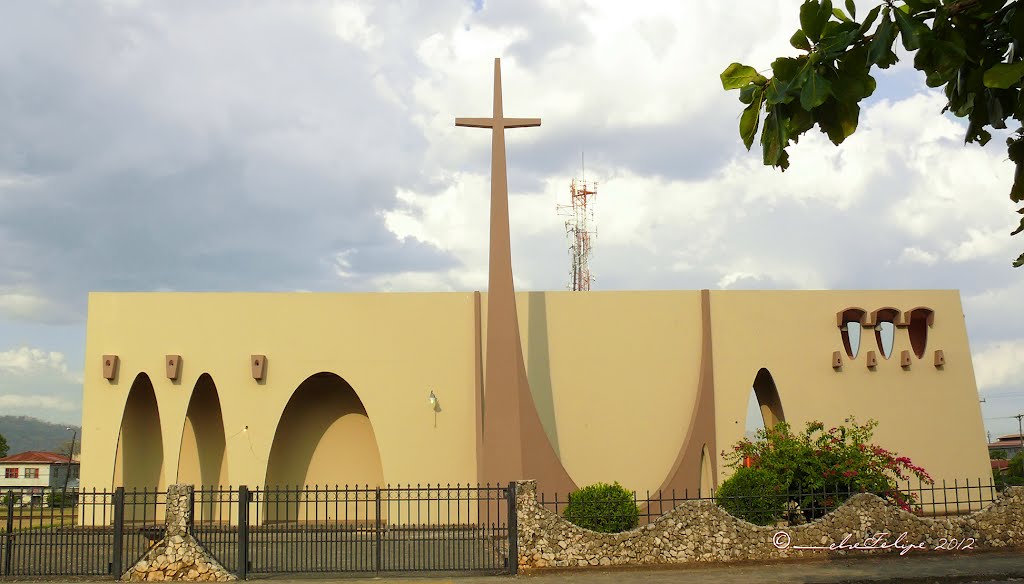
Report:
[[[68,455],[52,452],[28,451],[0,458],[0,493],[20,493],[23,505],[44,504],[44,493],[51,489],[59,492],[67,485],[69,491],[78,490],[79,466]]]

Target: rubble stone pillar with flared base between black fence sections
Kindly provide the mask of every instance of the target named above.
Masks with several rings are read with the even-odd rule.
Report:
[[[132,582],[227,582],[237,580],[203,549],[188,533],[191,519],[191,485],[167,488],[166,532],[121,579]]]

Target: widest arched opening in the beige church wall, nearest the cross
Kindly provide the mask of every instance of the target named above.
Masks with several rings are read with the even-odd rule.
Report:
[[[377,439],[355,390],[333,373],[308,377],[296,388],[278,423],[267,462],[265,516],[270,520],[303,516],[295,497],[285,491],[274,494],[279,488],[376,487],[383,482]]]

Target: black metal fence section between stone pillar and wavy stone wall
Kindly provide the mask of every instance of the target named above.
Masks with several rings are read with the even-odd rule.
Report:
[[[191,533],[242,578],[502,574],[516,569],[514,507],[514,486],[199,489]]]

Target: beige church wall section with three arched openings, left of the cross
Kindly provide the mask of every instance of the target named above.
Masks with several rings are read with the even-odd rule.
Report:
[[[474,338],[471,293],[91,294],[83,485],[113,484],[121,415],[138,372],[156,393],[165,483],[179,469],[185,414],[201,375],[210,375],[221,406],[227,482],[258,486],[279,418],[318,372],[340,376],[358,397],[385,482],[471,482]],[[102,377],[105,353],[120,357],[113,382]],[[182,357],[179,380],[167,378],[165,354]],[[265,381],[252,378],[250,354],[267,356]],[[427,401],[431,390],[439,412]]]

